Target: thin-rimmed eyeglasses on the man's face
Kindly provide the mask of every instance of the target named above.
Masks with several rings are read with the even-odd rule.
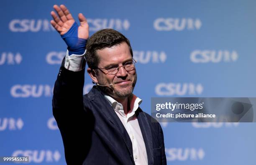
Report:
[[[107,70],[109,74],[117,74],[121,67],[123,67],[125,71],[132,71],[135,68],[135,63],[137,62],[133,59],[133,61],[125,62],[123,66],[111,65],[111,66],[108,66],[108,68],[95,68],[95,69]]]

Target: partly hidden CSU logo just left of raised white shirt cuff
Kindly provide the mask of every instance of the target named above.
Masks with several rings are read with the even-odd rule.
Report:
[[[63,58],[66,56],[65,51],[51,51],[46,55],[46,62],[49,63],[50,65],[54,64],[61,64]]]

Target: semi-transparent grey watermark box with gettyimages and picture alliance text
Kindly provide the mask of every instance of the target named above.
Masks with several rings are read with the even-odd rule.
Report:
[[[151,98],[153,122],[254,122],[256,98]]]

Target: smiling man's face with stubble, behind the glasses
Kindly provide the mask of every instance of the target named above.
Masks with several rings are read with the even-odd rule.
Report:
[[[97,50],[96,53],[100,59],[98,68],[108,68],[112,65],[123,66],[125,62],[133,60],[129,46],[125,42],[110,48]],[[136,69],[126,71],[124,67],[120,67],[117,74],[114,75],[109,74],[107,70],[100,71],[100,69],[98,69],[96,77],[100,85],[113,84],[100,87],[105,93],[116,99],[130,96],[137,80]]]

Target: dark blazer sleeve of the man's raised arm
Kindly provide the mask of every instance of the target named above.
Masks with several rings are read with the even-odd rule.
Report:
[[[86,147],[84,139],[85,111],[83,105],[84,69],[69,71],[62,62],[54,85],[53,115],[61,132],[67,164],[82,164]],[[85,64],[84,64],[85,65]]]

